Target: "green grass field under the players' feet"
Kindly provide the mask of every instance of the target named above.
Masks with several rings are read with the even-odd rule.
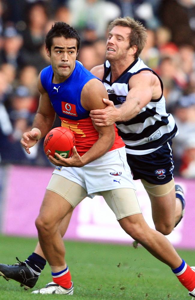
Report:
[[[0,262],[12,264],[15,256],[21,261],[29,256],[37,240],[0,235]],[[66,241],[66,259],[74,282],[72,300],[185,300],[187,290],[169,267],[143,247]],[[195,251],[178,250],[189,265],[195,264]],[[168,253],[167,253],[168,255]],[[52,281],[46,265],[36,286]],[[64,295],[33,295],[13,280],[0,277],[0,299],[60,299]],[[66,297],[66,296],[65,296]],[[67,296],[68,297],[68,296]]]

